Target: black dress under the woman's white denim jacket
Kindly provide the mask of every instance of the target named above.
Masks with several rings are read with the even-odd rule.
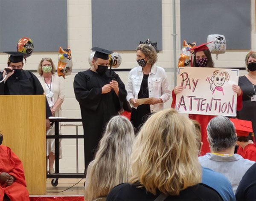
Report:
[[[138,94],[138,98],[148,98],[148,76],[143,75],[143,80],[140,85],[140,91]],[[150,105],[143,104],[137,107],[137,109],[132,108],[131,111],[131,122],[134,125],[136,131],[140,129],[143,123],[148,119],[148,115],[150,114]]]

